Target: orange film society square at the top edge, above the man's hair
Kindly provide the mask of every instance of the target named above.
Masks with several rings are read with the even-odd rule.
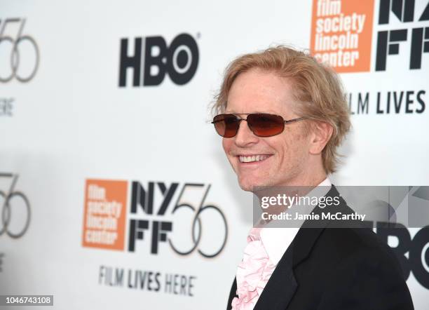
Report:
[[[313,0],[311,53],[336,72],[371,67],[374,0]]]

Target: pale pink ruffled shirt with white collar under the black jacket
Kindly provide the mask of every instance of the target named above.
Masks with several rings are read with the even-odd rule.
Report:
[[[325,196],[331,186],[329,179],[321,182],[320,196]],[[250,310],[257,303],[262,290],[273,274],[275,267],[292,243],[299,228],[275,228],[265,225],[250,229],[243,260],[237,268],[237,295],[231,306],[233,310]]]

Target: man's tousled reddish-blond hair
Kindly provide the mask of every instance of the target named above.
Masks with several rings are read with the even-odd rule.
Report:
[[[298,114],[332,126],[332,136],[322,150],[322,163],[327,173],[333,173],[339,161],[336,149],[351,126],[343,87],[334,70],[311,55],[287,46],[242,55],[226,67],[221,88],[214,98],[214,114],[225,111],[229,90],[236,77],[256,68],[274,72],[292,83],[294,99],[299,102]]]

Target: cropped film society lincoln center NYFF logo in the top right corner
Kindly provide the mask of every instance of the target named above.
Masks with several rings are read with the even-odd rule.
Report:
[[[422,69],[428,21],[429,1],[313,0],[311,50],[340,73],[386,71],[395,55],[404,69]]]

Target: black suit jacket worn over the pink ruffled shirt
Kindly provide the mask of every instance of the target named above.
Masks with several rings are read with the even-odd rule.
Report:
[[[326,196],[339,193],[332,186]],[[353,213],[343,199],[338,208]],[[372,229],[338,228],[329,220],[318,228],[307,224],[275,267],[254,309],[414,309],[393,250]],[[227,309],[236,290],[234,280]]]

